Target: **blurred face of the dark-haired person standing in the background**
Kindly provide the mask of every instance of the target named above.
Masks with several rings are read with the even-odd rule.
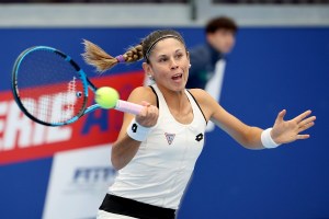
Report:
[[[207,34],[209,44],[223,54],[229,53],[236,43],[235,33],[230,30],[220,28],[215,33]]]

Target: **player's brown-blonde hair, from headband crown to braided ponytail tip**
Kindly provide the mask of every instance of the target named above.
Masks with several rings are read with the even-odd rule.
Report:
[[[178,32],[172,30],[160,30],[150,33],[140,44],[131,47],[126,53],[116,57],[109,55],[98,45],[83,39],[84,53],[82,54],[82,57],[87,64],[95,67],[97,71],[101,73],[113,68],[120,62],[129,64],[145,58],[149,64],[149,55],[155,45],[159,41],[168,37],[174,37],[185,46],[183,37]]]

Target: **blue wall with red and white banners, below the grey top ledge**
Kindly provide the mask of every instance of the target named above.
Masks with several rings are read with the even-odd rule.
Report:
[[[114,87],[127,99],[143,85],[141,62],[98,76],[81,59],[82,39],[115,56],[156,28],[0,28],[0,218],[94,218],[116,174],[110,154],[122,114],[99,111],[39,136],[11,94],[20,53],[58,48],[97,85]],[[189,48],[204,43],[200,27],[177,30]],[[261,128],[272,126],[281,110],[285,119],[311,110],[316,126],[307,131],[310,139],[261,151],[240,147],[218,127],[207,132],[179,219],[329,217],[328,38],[328,27],[239,30],[224,70],[223,107]]]

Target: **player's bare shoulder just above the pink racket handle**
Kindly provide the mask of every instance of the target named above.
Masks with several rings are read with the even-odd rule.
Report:
[[[143,101],[157,105],[156,94],[149,87],[138,87],[134,89],[128,97],[129,102],[140,104]]]

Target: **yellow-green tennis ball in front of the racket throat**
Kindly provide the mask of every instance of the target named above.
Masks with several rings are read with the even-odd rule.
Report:
[[[118,100],[118,93],[110,87],[102,87],[95,92],[95,102],[102,108],[113,108]]]

